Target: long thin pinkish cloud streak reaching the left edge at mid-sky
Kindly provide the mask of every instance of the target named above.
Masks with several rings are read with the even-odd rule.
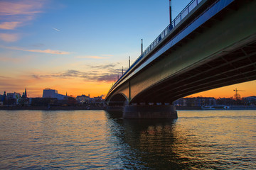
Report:
[[[1,35],[0,35],[1,37]],[[6,47],[3,45],[0,45],[0,47],[6,48],[6,49],[10,49],[10,50],[20,50],[20,51],[26,51],[26,52],[39,52],[39,53],[46,53],[46,54],[53,54],[53,55],[70,55],[71,52],[65,52],[65,51],[59,51],[59,50],[50,50],[50,49],[46,49],[46,50],[28,50],[28,49],[24,49],[21,47]]]

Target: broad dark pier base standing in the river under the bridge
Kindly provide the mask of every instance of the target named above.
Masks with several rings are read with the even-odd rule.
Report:
[[[176,119],[173,105],[128,105],[124,106],[123,118],[128,119]]]

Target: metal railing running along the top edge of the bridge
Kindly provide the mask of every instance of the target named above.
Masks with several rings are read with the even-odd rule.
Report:
[[[169,24],[169,26],[167,26],[162,32],[161,34],[151,43],[151,45],[149,45],[149,47],[146,48],[146,50],[144,50],[144,52],[142,52],[142,55],[140,55],[137,60],[135,60],[134,63],[132,63],[131,67],[129,67],[127,69],[126,72],[124,72],[124,74],[122,75],[122,77],[125,76],[125,74],[127,74],[140,60],[142,60],[142,58],[144,58],[147,54],[149,54],[149,52],[151,52],[151,50],[154,49],[154,47],[156,47],[156,45],[159,44],[159,42],[161,42],[161,40],[163,38],[166,37],[166,35],[168,35],[171,30],[173,28],[175,28],[178,23],[180,23],[183,18],[185,18],[188,13],[190,13],[193,8],[195,8],[196,6],[198,6],[198,4],[203,1],[203,0],[192,0],[182,11],[181,13],[178,14],[178,16],[176,16],[176,18],[174,18],[174,20],[171,22],[171,24]],[[122,79],[122,77],[120,77],[115,83],[114,85],[112,86],[112,88],[119,82],[120,79]],[[112,89],[111,88],[111,89]],[[110,89],[110,91],[111,91]]]

